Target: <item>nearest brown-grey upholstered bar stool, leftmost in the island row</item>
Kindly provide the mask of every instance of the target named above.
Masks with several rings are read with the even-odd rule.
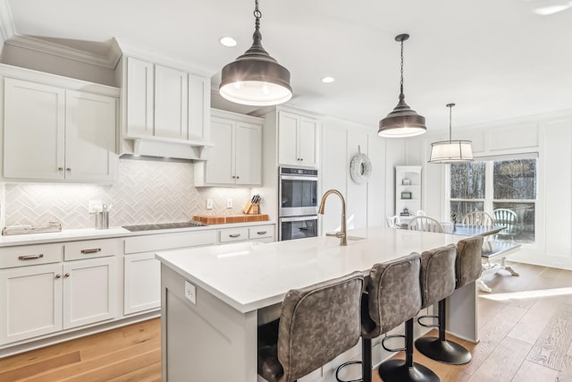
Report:
[[[363,286],[354,272],[286,293],[280,318],[258,327],[258,374],[292,382],[357,344]]]

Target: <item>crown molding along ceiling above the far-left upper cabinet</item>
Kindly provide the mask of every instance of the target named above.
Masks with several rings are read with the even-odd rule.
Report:
[[[58,57],[68,58],[70,60],[80,61],[82,63],[94,64],[108,69],[115,69],[115,66],[121,58],[122,52],[119,49],[115,39],[109,48],[109,55],[96,55],[84,50],[65,47],[55,44],[41,38],[32,38],[29,36],[14,35],[5,41],[6,44],[13,47],[22,47],[24,49],[35,50],[37,52],[46,53],[47,55],[55,55]]]

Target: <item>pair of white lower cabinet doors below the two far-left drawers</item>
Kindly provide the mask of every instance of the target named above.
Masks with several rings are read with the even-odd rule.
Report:
[[[0,271],[0,344],[115,317],[115,258]]]

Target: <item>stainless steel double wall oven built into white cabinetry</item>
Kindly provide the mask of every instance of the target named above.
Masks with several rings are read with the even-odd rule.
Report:
[[[278,240],[302,239],[318,234],[318,171],[280,167],[278,184]]]

